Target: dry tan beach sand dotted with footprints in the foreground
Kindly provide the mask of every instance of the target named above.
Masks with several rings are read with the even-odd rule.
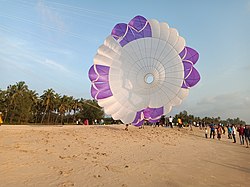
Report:
[[[0,186],[249,186],[250,148],[199,129],[0,126]]]

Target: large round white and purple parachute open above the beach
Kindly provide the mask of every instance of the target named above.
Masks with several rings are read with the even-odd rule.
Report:
[[[200,80],[199,54],[167,23],[134,17],[113,28],[89,69],[91,96],[123,123],[159,121]]]

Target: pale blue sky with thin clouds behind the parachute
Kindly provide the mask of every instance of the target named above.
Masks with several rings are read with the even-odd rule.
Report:
[[[200,54],[200,82],[169,115],[250,124],[250,0],[0,0],[0,89],[25,81],[40,95],[91,99],[97,49],[136,15],[167,22]]]

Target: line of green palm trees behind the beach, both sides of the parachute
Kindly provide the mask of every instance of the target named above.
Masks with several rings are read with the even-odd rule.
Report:
[[[0,89],[0,112],[4,123],[9,124],[72,124],[77,119],[88,119],[90,124],[97,119],[105,123],[116,123],[112,118],[104,118],[104,111],[96,100],[76,99],[73,96],[61,95],[52,88],[44,90],[41,96],[30,90],[24,81],[9,85],[6,90]],[[187,111],[174,116],[174,122],[181,118],[184,123],[193,122],[246,124],[239,118],[222,120],[220,117],[196,117]]]

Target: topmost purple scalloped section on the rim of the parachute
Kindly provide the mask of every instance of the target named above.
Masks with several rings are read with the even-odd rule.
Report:
[[[125,23],[117,24],[113,28],[111,35],[118,40],[120,45],[123,47],[133,40],[151,37],[152,32],[146,18],[136,16],[129,22],[128,25]]]

